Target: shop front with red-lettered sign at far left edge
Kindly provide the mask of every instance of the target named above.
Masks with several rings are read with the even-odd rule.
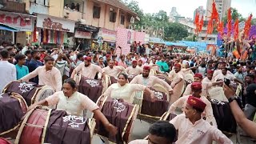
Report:
[[[34,30],[35,17],[29,14],[11,13],[0,11],[0,23],[10,26],[15,30],[0,30],[0,42],[21,43],[31,42],[27,34]]]

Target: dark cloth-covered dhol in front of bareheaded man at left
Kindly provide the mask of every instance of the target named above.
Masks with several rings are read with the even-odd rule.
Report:
[[[34,82],[19,81],[13,81],[6,85],[3,93],[9,92],[22,95],[28,106],[54,94],[54,90],[50,86],[38,86]]]

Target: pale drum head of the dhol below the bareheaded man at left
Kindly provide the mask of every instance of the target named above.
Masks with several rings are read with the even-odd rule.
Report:
[[[39,102],[53,94],[54,89],[52,89],[50,86],[43,86],[42,89],[38,91],[38,94],[35,96],[34,100],[35,102]]]

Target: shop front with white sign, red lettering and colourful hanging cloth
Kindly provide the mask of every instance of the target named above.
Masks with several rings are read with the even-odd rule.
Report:
[[[68,38],[74,35],[74,26],[74,21],[38,14],[33,32],[34,42],[42,43],[45,48],[69,46]]]

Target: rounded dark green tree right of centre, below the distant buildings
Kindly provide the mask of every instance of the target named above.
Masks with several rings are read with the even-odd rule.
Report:
[[[188,35],[185,26],[182,26],[178,22],[168,22],[168,26],[165,28],[164,39],[167,41],[181,41],[182,38],[186,38]]]

